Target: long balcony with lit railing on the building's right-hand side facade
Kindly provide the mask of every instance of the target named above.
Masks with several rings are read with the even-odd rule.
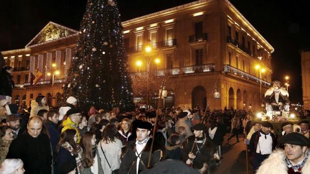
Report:
[[[227,65],[227,64],[224,65],[224,72],[225,73],[231,73],[231,74],[234,74],[236,76],[240,76],[241,78],[245,78],[247,80],[250,80],[250,81],[253,81],[253,82],[256,82],[256,83],[260,83],[260,81],[261,81],[262,84],[264,86],[267,86],[267,87],[269,87],[271,85],[271,83],[268,82],[268,81],[262,80],[262,79],[260,79],[260,78],[258,78],[256,76],[254,76],[254,75],[251,75],[249,73],[241,71],[241,70],[239,70],[239,69],[237,69],[235,67],[232,67],[230,65]]]

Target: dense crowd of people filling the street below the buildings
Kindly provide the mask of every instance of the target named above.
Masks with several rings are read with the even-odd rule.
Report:
[[[224,136],[229,132],[228,143],[234,136],[236,143],[243,137],[258,173],[265,173],[270,165],[266,161],[274,153],[282,155],[283,164],[295,173],[310,163],[306,120],[298,125],[283,123],[278,136],[272,133],[271,123],[231,107],[207,108],[205,113],[199,106],[162,108],[158,114],[145,108],[121,112],[118,107],[91,106],[85,111],[74,97],[56,108],[49,107],[42,95],[28,109],[7,99],[0,105],[5,114],[0,126],[0,173],[145,173],[162,171],[157,166],[171,162],[183,171],[212,173],[221,165]],[[274,151],[278,142],[284,144],[284,151]]]

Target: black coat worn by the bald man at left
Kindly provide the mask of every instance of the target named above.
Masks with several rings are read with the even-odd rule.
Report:
[[[10,145],[7,159],[21,159],[25,174],[51,173],[52,155],[49,138],[41,133],[34,138],[24,132],[14,139]]]

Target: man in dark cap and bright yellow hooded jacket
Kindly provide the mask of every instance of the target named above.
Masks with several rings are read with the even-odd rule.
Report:
[[[82,120],[82,111],[77,108],[69,109],[66,113],[68,116],[67,120],[63,121],[63,129],[61,129],[61,133],[65,132],[67,129],[75,129],[77,132],[77,143],[80,143],[81,136],[79,133],[79,123],[81,123]]]

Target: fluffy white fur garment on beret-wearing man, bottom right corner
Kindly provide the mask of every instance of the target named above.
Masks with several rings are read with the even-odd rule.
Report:
[[[310,151],[307,152],[310,155]],[[270,156],[264,160],[261,166],[258,168],[256,174],[278,174],[288,173],[288,166],[285,161],[285,152],[283,150],[275,150]],[[302,174],[310,173],[310,158],[307,159],[304,166],[301,169]]]

